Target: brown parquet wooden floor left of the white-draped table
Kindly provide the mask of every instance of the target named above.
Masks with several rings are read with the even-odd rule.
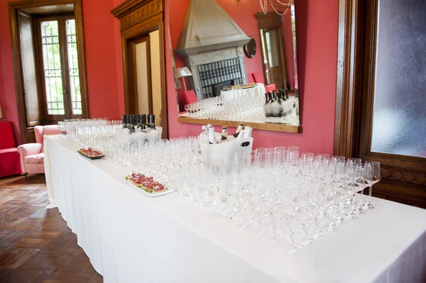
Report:
[[[0,178],[0,282],[103,282],[58,209],[47,204],[44,174]]]

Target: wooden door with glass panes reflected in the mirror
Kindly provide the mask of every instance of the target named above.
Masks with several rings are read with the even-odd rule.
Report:
[[[266,84],[275,84],[278,89],[283,89],[283,66],[280,60],[283,51],[278,40],[280,34],[278,28],[261,30]]]

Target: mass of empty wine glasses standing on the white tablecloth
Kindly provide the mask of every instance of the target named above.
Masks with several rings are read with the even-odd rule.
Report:
[[[154,177],[214,216],[301,250],[375,209],[371,187],[378,162],[302,152],[296,146],[256,148],[204,163],[199,137],[119,143],[117,125],[77,126],[72,142],[101,150],[109,162]],[[356,194],[364,192],[368,194]]]

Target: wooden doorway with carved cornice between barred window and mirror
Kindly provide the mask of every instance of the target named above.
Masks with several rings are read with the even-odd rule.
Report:
[[[111,13],[120,20],[126,114],[154,114],[168,138],[163,2],[127,0]]]

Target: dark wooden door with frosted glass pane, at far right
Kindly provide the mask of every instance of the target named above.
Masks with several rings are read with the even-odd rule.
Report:
[[[426,208],[426,6],[405,2],[367,2],[359,157],[381,162],[373,195]]]

